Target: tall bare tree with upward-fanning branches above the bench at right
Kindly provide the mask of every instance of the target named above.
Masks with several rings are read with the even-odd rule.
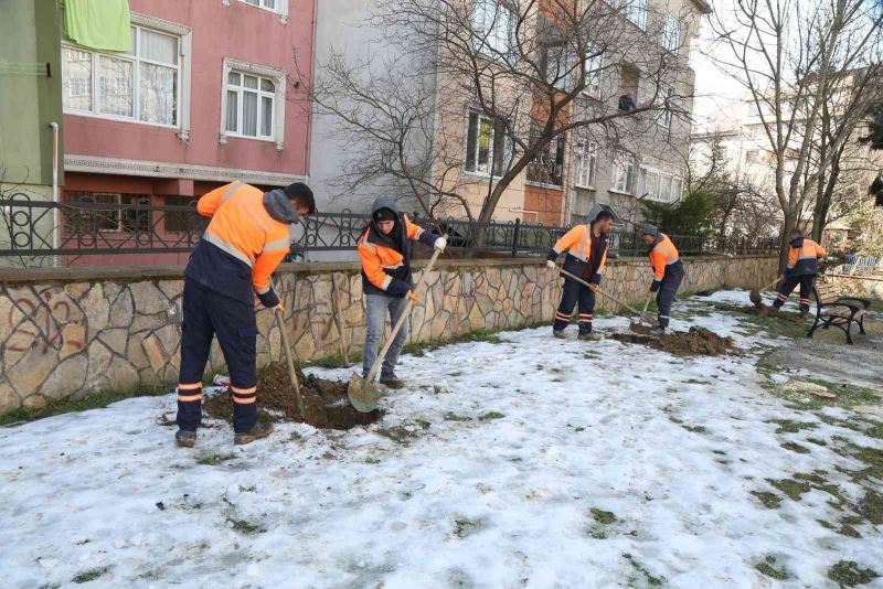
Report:
[[[788,234],[864,115],[866,90],[881,75],[882,22],[880,7],[862,0],[741,0],[712,18],[712,57],[747,89],[774,160],[784,217],[780,267]],[[826,150],[813,162],[826,105],[841,93],[850,99],[831,110],[841,122],[830,128]]]

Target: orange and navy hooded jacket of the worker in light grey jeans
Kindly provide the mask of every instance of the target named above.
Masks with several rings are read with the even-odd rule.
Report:
[[[395,225],[389,235],[383,235],[374,221],[374,214],[389,208],[395,213]],[[402,298],[412,288],[412,242],[432,246],[436,236],[411,223],[407,215],[389,196],[380,196],[371,207],[371,223],[359,237],[358,251],[362,263],[362,290],[365,294],[386,294]]]

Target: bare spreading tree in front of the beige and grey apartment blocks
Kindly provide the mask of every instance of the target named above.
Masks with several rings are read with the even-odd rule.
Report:
[[[564,173],[565,137],[611,151],[635,137],[666,142],[657,118],[691,109],[682,50],[696,23],[687,9],[675,19],[641,6],[376,0],[364,26],[396,51],[336,52],[311,85],[300,79],[339,142],[359,146],[339,189],[385,182],[428,215],[487,223],[525,172]]]

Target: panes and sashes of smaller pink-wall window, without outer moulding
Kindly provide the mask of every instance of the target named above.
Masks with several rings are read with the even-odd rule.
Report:
[[[226,131],[242,137],[273,139],[276,83],[242,72],[228,72],[226,93]]]

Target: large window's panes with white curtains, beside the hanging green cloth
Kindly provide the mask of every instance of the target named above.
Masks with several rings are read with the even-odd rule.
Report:
[[[65,110],[180,126],[180,35],[132,26],[131,39],[132,50],[128,53],[108,54],[62,46]]]

